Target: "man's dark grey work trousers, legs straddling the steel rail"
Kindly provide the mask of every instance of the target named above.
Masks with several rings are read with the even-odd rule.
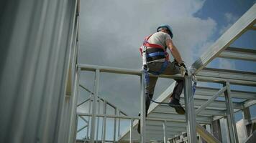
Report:
[[[163,62],[154,61],[154,62],[147,64],[147,66],[149,67],[150,71],[160,71],[162,64],[163,64]],[[168,75],[180,74],[180,67],[178,65],[175,65],[174,63],[168,61],[168,65],[162,74],[168,74]],[[150,102],[151,102],[150,98],[152,99],[153,94],[154,94],[155,84],[157,83],[157,79],[158,79],[158,77],[150,77],[150,83],[146,87],[146,94],[149,94],[149,96],[146,97],[146,101],[145,101],[146,102],[146,115],[147,115],[147,110],[150,107]],[[170,97],[175,97],[175,99],[180,100],[180,94],[183,91],[184,82],[181,79],[175,79],[175,81],[176,81],[176,84],[173,89],[173,94],[171,94]]]

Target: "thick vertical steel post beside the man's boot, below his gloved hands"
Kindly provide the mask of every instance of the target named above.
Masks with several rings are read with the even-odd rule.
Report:
[[[188,76],[185,78],[184,86],[184,97],[186,105],[186,123],[187,123],[187,134],[188,142],[197,142],[196,137],[196,114],[193,104],[193,89],[192,89],[192,77]]]

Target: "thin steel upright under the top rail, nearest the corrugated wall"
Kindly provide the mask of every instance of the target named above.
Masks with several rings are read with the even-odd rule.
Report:
[[[91,117],[91,134],[90,134],[90,142],[94,142],[95,135],[95,122],[96,122],[96,105],[97,105],[97,97],[99,93],[99,69],[95,71],[95,82],[94,82],[94,94],[93,94],[93,110]]]

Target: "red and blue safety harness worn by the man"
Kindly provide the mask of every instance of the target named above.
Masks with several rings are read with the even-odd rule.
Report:
[[[152,34],[150,36],[152,36]],[[142,58],[145,58],[144,60],[146,61],[146,63],[143,63],[143,65],[147,64],[147,62],[149,61],[165,59],[159,71],[148,70],[151,74],[159,75],[162,74],[163,71],[165,71],[168,65],[169,54],[166,51],[166,48],[164,48],[163,46],[149,43],[148,39],[150,39],[150,36],[147,36],[143,41],[143,45],[140,46],[140,53],[142,55]],[[145,57],[143,57],[143,52],[145,52]]]

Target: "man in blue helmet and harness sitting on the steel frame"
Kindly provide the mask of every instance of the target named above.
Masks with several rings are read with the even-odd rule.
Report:
[[[168,24],[157,27],[157,32],[150,36],[147,36],[142,47],[147,48],[147,67],[151,74],[180,74],[180,69],[186,70],[183,59],[176,46],[173,44],[173,31]],[[142,52],[142,47],[140,51]],[[166,50],[169,49],[174,57],[174,61],[170,62],[168,53]],[[149,83],[146,87],[146,116],[147,111],[150,107],[150,101],[154,94],[155,84],[157,83],[158,77],[149,77]],[[183,91],[183,80],[175,79],[176,84],[173,89],[173,94],[170,95],[169,106],[175,108],[178,114],[185,114],[185,110],[180,105],[180,94]],[[138,132],[140,133],[140,122]]]

